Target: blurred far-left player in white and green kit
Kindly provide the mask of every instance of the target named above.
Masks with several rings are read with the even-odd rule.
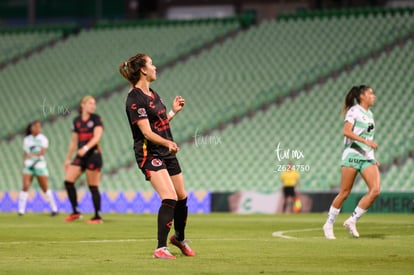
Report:
[[[49,146],[49,140],[42,134],[42,123],[38,120],[33,121],[27,126],[26,137],[23,140],[24,168],[23,168],[23,187],[19,194],[18,213],[24,215],[26,212],[29,188],[32,185],[33,177],[37,178],[40,188],[46,197],[52,210],[51,215],[56,216],[58,209],[52,191],[48,187],[49,171],[44,155]]]

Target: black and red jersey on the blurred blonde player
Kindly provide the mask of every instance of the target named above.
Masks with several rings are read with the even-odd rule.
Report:
[[[91,114],[87,120],[82,120],[81,116],[73,120],[72,131],[78,134],[78,148],[82,148],[93,137],[93,130],[97,126],[102,126],[102,119],[97,114]],[[99,143],[91,149],[99,149]],[[93,151],[93,150],[90,150]]]

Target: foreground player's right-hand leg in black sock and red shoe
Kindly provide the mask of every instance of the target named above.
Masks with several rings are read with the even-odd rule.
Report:
[[[187,207],[187,192],[184,186],[184,177],[182,173],[171,176],[175,191],[177,192],[177,205],[174,211],[174,231],[175,234],[171,236],[170,242],[180,248],[181,252],[186,256],[194,256],[195,253],[188,245],[185,239],[185,227],[187,225],[188,207]]]

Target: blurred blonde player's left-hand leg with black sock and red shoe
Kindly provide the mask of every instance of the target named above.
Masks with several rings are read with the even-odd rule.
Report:
[[[81,213],[78,210],[78,195],[75,188],[75,182],[82,174],[82,168],[78,165],[69,165],[65,175],[65,188],[68,194],[69,202],[72,206],[72,214],[65,218],[65,221],[70,222],[80,219]]]

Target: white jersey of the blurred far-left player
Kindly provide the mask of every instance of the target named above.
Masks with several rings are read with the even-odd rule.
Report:
[[[49,140],[43,134],[37,136],[28,135],[23,140],[23,150],[27,154],[37,154],[42,148],[49,146]],[[28,158],[24,161],[25,167],[31,167],[35,164],[36,168],[46,168],[44,156]]]

